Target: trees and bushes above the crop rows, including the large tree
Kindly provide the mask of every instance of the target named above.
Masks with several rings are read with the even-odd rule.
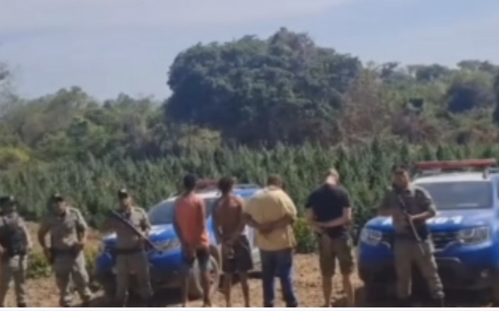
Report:
[[[186,49],[170,67],[167,100],[99,101],[80,87],[27,100],[0,66],[0,169],[160,159],[225,145],[350,146],[375,137],[495,143],[498,68],[479,60],[455,68],[362,63],[286,29]]]

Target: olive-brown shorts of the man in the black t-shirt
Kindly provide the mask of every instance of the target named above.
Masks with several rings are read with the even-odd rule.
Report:
[[[343,275],[354,272],[353,242],[349,237],[330,238],[326,234],[318,235],[320,272],[323,276],[333,276],[336,260]]]

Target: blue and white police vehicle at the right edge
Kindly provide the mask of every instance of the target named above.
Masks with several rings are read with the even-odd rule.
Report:
[[[438,213],[427,221],[445,289],[490,291],[499,300],[499,171],[495,159],[418,162],[413,183],[426,189]],[[368,298],[387,295],[396,281],[389,217],[375,217],[359,239],[359,275]],[[422,282],[414,269],[413,284]]]

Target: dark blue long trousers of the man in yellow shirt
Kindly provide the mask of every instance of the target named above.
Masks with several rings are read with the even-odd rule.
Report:
[[[262,261],[263,307],[274,307],[275,277],[281,281],[286,307],[298,307],[293,289],[293,250],[260,250]]]

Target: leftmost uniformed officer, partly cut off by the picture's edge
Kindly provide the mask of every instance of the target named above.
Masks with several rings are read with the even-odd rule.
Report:
[[[31,239],[12,196],[0,197],[0,307],[5,307],[12,279],[18,307],[27,307],[26,269]]]

